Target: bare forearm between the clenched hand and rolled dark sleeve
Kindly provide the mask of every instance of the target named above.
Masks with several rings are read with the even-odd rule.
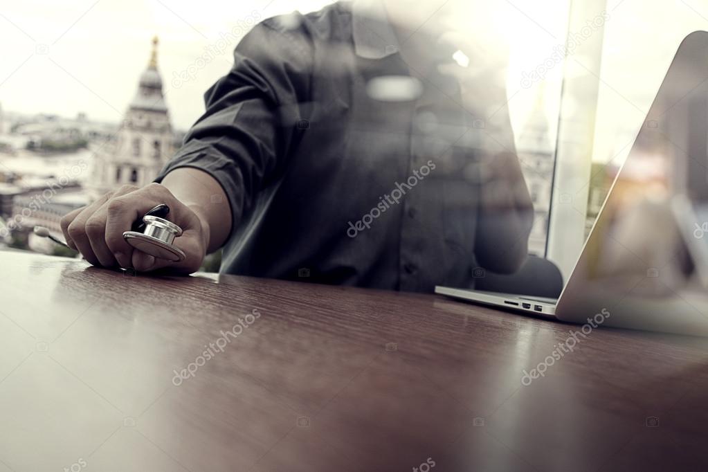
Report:
[[[207,253],[226,243],[232,227],[232,212],[224,189],[205,171],[180,167],[168,173],[161,182],[202,223]]]

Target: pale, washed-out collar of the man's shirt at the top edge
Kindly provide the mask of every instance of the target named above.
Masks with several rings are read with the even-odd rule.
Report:
[[[365,59],[383,59],[399,51],[399,41],[381,0],[354,0],[354,51]]]

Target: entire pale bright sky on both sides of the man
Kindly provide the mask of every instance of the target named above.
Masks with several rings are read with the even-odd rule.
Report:
[[[586,1],[598,13],[603,8],[608,13],[593,156],[596,161],[607,161],[626,144],[627,136],[636,134],[680,40],[693,30],[708,29],[708,2]],[[176,128],[187,129],[203,113],[203,93],[231,67],[237,39],[224,43],[224,33],[246,28],[254,20],[295,9],[314,11],[328,3],[0,0],[0,104],[4,110],[21,113],[74,116],[84,112],[94,120],[118,122],[147,66],[152,37],[158,35],[159,69],[171,120]],[[416,8],[425,4],[434,12],[438,4],[447,2],[410,3]],[[520,87],[520,74],[532,70],[563,43],[567,5],[568,1],[530,0],[493,4],[504,21],[495,28],[512,50],[508,96],[513,97],[510,109],[517,128],[538,91],[535,86]],[[474,12],[469,8],[459,16],[459,23],[479,27]],[[214,59],[195,69],[198,57],[217,45],[222,49],[217,49]],[[175,79],[188,68],[194,71],[188,81]],[[544,100],[549,117],[558,110],[562,73],[563,64],[549,71]],[[626,131],[617,133],[616,129]]]

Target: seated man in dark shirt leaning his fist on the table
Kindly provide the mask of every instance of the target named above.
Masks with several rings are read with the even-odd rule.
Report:
[[[67,243],[94,265],[182,273],[224,246],[226,273],[304,269],[313,282],[418,292],[472,287],[477,267],[517,270],[533,212],[496,79],[505,64],[451,47],[449,29],[399,2],[256,25],[156,183],[67,214]],[[184,229],[181,263],[122,238],[159,203]]]

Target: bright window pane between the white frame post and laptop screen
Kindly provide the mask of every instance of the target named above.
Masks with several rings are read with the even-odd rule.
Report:
[[[593,143],[594,182],[590,185],[593,203],[602,203],[612,183],[605,176],[617,171],[627,158],[678,45],[689,33],[706,29],[708,6],[704,3],[687,0],[670,7],[628,3],[612,9],[605,28]],[[647,24],[661,24],[661,28],[649,38],[638,38],[638,25]],[[597,205],[588,207],[588,219],[594,221],[597,212],[591,208]]]

